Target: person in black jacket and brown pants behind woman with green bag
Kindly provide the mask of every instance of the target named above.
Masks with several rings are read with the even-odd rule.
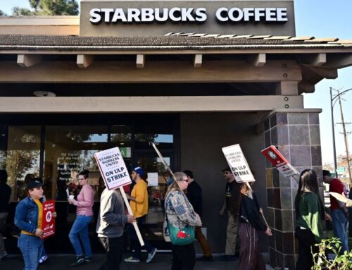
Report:
[[[202,217],[203,202],[202,202],[201,186],[198,183],[196,183],[196,180],[194,180],[192,171],[186,170],[183,172],[186,173],[188,178],[188,187],[187,187],[187,193],[186,193],[187,199],[192,204],[192,207],[196,212],[196,214],[199,214],[199,216]],[[196,227],[195,233],[196,233],[196,240],[198,240],[199,245],[201,245],[201,249],[203,250],[203,257],[200,257],[198,259],[200,261],[205,261],[205,262],[213,260],[213,255],[211,254],[210,245],[208,244],[208,241],[203,235],[201,231],[201,227]]]

